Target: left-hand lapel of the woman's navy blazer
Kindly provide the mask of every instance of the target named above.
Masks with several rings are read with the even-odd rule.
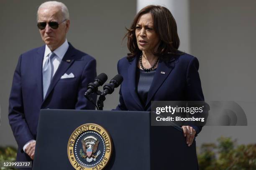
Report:
[[[141,105],[141,101],[138,97],[138,93],[136,92],[136,68],[138,63],[138,57],[134,57],[134,59],[130,62],[130,65],[128,67],[128,83],[129,83],[129,90],[131,92],[131,95],[133,96],[133,99],[135,100],[135,103],[138,105],[140,110],[144,110],[143,106]]]

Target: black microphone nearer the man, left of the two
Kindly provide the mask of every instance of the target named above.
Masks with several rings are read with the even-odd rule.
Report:
[[[87,91],[84,93],[84,97],[97,91],[97,87],[102,86],[108,80],[108,76],[105,73],[100,73],[95,77],[94,82],[87,85]]]

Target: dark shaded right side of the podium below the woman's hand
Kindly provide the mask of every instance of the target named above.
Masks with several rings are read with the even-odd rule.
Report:
[[[187,146],[182,129],[151,126],[151,170],[198,170],[196,143]]]

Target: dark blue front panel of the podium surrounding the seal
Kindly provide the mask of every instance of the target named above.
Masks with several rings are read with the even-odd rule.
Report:
[[[41,110],[34,170],[74,170],[67,145],[76,128],[95,123],[108,131],[113,154],[106,170],[150,169],[149,112],[97,110]]]

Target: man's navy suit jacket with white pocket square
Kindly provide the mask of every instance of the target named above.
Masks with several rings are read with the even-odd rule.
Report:
[[[23,153],[29,140],[36,140],[40,109],[94,110],[84,97],[87,84],[96,77],[96,60],[71,44],[65,53],[43,99],[42,63],[45,45],[20,55],[13,75],[9,99],[9,122],[18,143],[17,160],[31,160]],[[61,79],[64,73],[74,78]],[[96,96],[93,96],[96,100]]]

